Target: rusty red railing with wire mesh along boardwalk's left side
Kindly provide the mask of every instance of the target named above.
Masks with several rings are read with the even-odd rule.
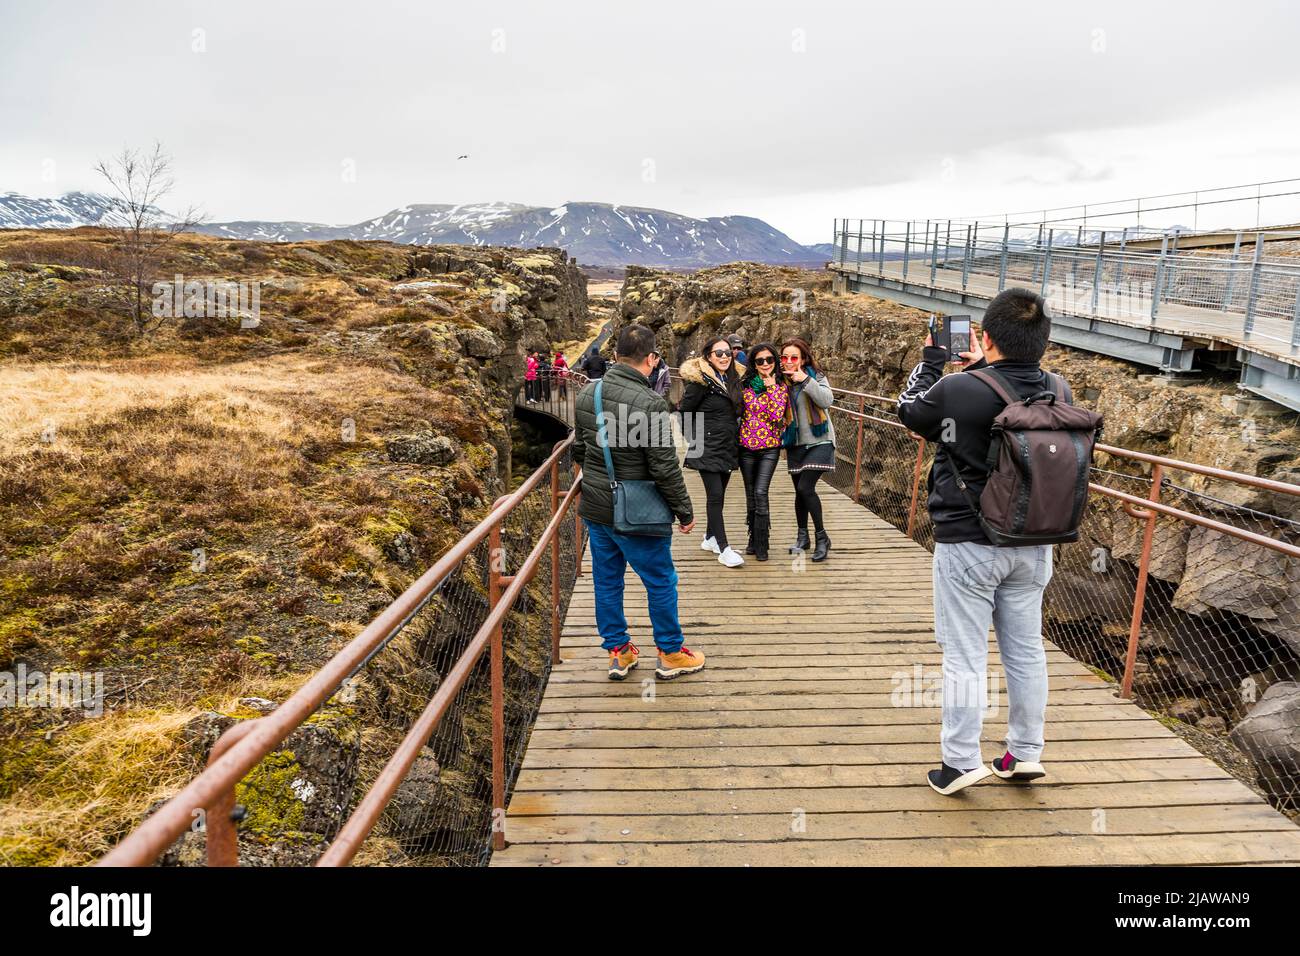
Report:
[[[204,843],[225,866],[242,852],[476,865],[503,847],[506,793],[581,568],[571,449],[559,442],[269,714],[228,719],[208,767],[101,865],[191,862]]]

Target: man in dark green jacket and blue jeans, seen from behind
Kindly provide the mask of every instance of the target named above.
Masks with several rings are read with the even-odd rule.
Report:
[[[615,343],[616,363],[604,373],[602,407],[610,437],[610,457],[619,481],[651,480],[686,535],[696,527],[690,494],[677,463],[670,427],[671,410],[650,388],[659,362],[654,333],[628,325]],[[670,680],[703,669],[705,656],[684,646],[677,622],[677,570],[672,538],[620,535],[614,529],[614,492],[598,440],[595,385],[577,395],[573,412],[573,460],[582,468],[578,514],[586,522],[595,588],[595,626],[610,653],[610,680],[623,680],[637,666],[637,646],[628,639],[623,614],[623,579],[628,564],[645,585],[654,643],[659,649],[655,676]]]

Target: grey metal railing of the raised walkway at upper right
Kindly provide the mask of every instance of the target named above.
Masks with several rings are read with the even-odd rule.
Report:
[[[1186,307],[1197,312],[1179,317],[1300,352],[1300,259],[1264,255],[1269,241],[1300,239],[1300,230],[1238,232],[1232,251],[1221,255],[1179,251],[1178,233],[1160,238],[1160,248],[1130,248],[1128,228],[838,220],[835,263],[952,291],[1024,286],[1060,311],[1089,317],[1156,324],[1161,310]]]

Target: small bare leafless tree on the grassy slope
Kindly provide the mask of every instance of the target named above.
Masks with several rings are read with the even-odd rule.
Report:
[[[105,228],[117,237],[109,271],[118,280],[117,291],[139,334],[162,324],[148,306],[146,289],[153,281],[168,243],[203,217],[195,207],[168,217],[159,203],[172,193],[172,157],[155,142],[152,152],[125,148],[109,160],[100,160],[95,172],[113,187],[121,208],[110,213]],[[170,221],[168,221],[170,220]]]

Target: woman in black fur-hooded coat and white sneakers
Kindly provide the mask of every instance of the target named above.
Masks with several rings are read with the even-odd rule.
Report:
[[[699,432],[703,431],[701,453],[686,455],[686,467],[699,472],[707,496],[708,524],[699,546],[716,554],[718,561],[727,567],[745,563],[727,542],[727,528],[723,525],[727,483],[736,471],[740,450],[740,377],[744,372],[744,365],[737,368],[732,360],[727,339],[716,338],[705,346],[702,356],[681,363],[681,380],[686,388],[677,402],[682,432],[692,438],[692,444],[699,441]],[[698,418],[688,421],[688,415]]]

